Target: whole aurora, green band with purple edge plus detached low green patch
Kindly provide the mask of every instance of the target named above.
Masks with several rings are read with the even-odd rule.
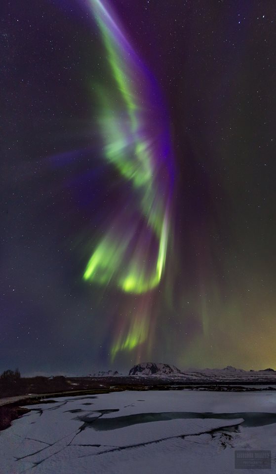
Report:
[[[129,183],[131,197],[94,248],[83,279],[143,297],[158,286],[167,256],[173,189],[169,127],[156,83],[114,15],[99,0],[90,4],[112,74],[108,87],[93,84],[103,158]],[[128,321],[125,336],[120,332],[113,358],[147,339],[149,324],[145,316],[137,317]]]

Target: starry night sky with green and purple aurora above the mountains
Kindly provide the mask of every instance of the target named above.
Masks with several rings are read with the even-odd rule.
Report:
[[[0,371],[276,368],[275,2],[2,11]]]

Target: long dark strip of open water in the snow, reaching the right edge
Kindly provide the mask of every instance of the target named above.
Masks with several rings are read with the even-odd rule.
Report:
[[[110,413],[117,410],[97,410],[92,413]],[[91,414],[92,414],[91,413]],[[117,430],[118,428],[126,428],[131,425],[141,423],[150,423],[155,421],[168,421],[179,419],[217,419],[217,420],[234,420],[243,418],[244,421],[240,426],[257,427],[276,423],[276,413],[191,413],[191,412],[161,412],[161,413],[139,413],[137,415],[119,416],[116,418],[103,418],[102,416],[92,418],[90,416],[79,416],[77,419],[97,431]],[[89,423],[90,422],[90,423]]]

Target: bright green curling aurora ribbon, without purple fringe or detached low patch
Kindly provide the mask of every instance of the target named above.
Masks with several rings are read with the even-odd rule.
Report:
[[[141,192],[141,211],[149,229],[158,240],[158,255],[155,268],[151,271],[146,271],[141,266],[139,256],[130,258],[129,263],[124,265],[126,270],[121,270],[129,241],[122,242],[116,235],[111,234],[104,237],[96,246],[87,263],[83,279],[108,284],[115,278],[116,285],[124,292],[141,294],[155,288],[160,282],[166,259],[167,216],[164,212],[164,203],[156,192],[151,147],[146,138],[141,138],[142,124],[137,115],[137,111],[141,110],[139,95],[131,88],[133,64],[126,57],[124,47],[111,30],[112,26],[121,35],[107,10],[98,0],[92,0],[91,5],[127,117],[121,123],[114,101],[109,98],[108,93],[98,87],[98,96],[102,103],[100,127],[105,140],[104,156],[107,162],[113,163],[120,174],[132,183],[134,189]],[[129,142],[132,154],[129,152]],[[157,203],[158,200],[161,202]]]

